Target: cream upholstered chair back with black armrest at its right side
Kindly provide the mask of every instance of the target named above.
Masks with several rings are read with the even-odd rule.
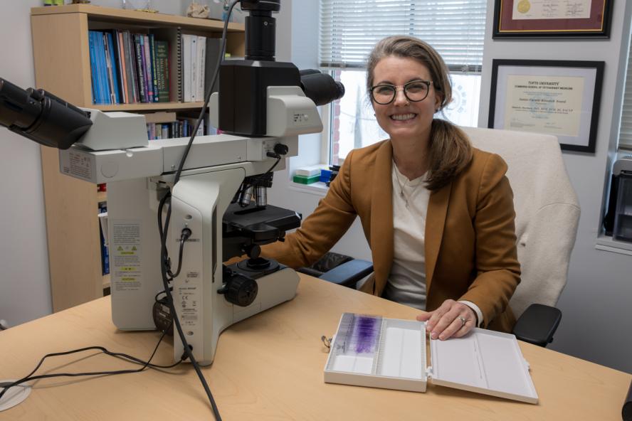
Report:
[[[579,201],[554,136],[463,127],[472,144],[507,162],[516,212],[522,281],[510,306],[522,341],[547,346],[562,312],[554,306],[567,282],[579,224]]]

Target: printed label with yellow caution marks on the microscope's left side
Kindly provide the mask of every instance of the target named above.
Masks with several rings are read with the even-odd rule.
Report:
[[[139,220],[112,220],[110,234],[110,272],[117,291],[136,291],[141,287],[141,223]]]

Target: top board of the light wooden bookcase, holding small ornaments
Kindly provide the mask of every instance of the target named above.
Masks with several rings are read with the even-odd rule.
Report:
[[[110,7],[93,6],[91,4],[68,4],[55,7],[34,7],[31,15],[52,15],[52,14],[88,14],[91,20],[100,20],[112,23],[127,22],[134,24],[145,23],[147,26],[181,26],[191,30],[221,32],[223,21],[216,19],[187,18],[184,16],[167,15],[159,13],[149,13],[146,11],[135,11],[125,9],[113,9]],[[228,32],[243,32],[243,23],[228,23]]]

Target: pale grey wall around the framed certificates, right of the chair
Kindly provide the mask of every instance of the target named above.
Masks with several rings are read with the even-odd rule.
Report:
[[[609,178],[609,154],[616,144],[632,2],[614,1],[608,40],[494,40],[494,1],[488,0],[480,115],[487,127],[493,58],[596,60],[606,62],[596,152],[564,151],[564,162],[579,196],[581,218],[567,287],[558,307],[562,322],[549,345],[605,366],[632,373],[632,256],[595,249]]]

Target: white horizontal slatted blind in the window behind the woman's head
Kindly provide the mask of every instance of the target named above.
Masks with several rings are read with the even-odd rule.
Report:
[[[320,65],[364,68],[381,38],[426,41],[451,71],[480,73],[486,0],[320,0]]]

